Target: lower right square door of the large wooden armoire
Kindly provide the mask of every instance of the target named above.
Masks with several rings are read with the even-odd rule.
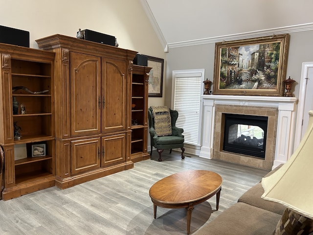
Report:
[[[125,162],[125,158],[125,135],[102,138],[102,167]]]

